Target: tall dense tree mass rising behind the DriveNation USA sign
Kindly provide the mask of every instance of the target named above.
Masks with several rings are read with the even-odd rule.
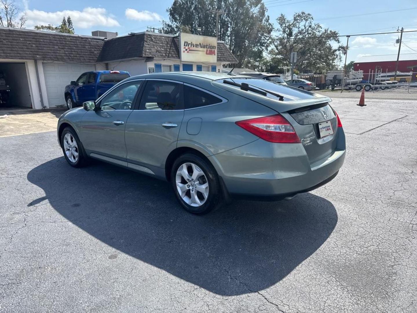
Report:
[[[213,10],[225,12],[219,15],[219,40],[225,41],[238,59],[236,67],[259,65],[272,30],[262,0],[174,0],[167,9],[170,23],[165,24],[164,33],[188,27],[190,33],[215,36]]]

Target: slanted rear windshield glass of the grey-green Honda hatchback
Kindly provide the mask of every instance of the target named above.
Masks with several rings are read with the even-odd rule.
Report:
[[[264,79],[260,78],[249,78],[249,77],[231,77],[226,79],[219,79],[216,82],[218,83],[224,83],[224,81],[230,81],[236,84],[242,84],[246,83],[249,84],[251,87],[254,88],[261,88],[264,91],[271,91],[273,93],[279,94],[281,96],[284,96],[284,101],[289,100],[301,100],[301,99],[311,99],[311,96],[314,97],[314,93],[311,93],[309,91],[300,90],[298,88],[290,87],[287,85],[281,85],[279,83],[274,83],[272,81],[266,81]],[[235,88],[239,88],[238,86],[235,86]],[[252,92],[252,91],[248,91]],[[279,100],[279,97],[267,93],[267,98],[271,98],[274,100]]]

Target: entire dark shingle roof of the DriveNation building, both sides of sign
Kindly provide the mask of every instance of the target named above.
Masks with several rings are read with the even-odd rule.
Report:
[[[0,58],[62,62],[110,62],[130,58],[179,59],[179,38],[157,33],[138,33],[103,38],[0,28]],[[217,61],[237,63],[224,42],[217,43]]]

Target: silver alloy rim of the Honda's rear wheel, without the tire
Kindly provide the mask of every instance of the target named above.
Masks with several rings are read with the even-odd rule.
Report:
[[[176,186],[180,197],[192,207],[200,207],[208,197],[206,174],[196,165],[187,162],[178,167]]]

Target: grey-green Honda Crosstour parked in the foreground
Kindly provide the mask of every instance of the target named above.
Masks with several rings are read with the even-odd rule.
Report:
[[[58,141],[71,166],[93,158],[165,179],[201,214],[234,196],[290,199],[332,180],[345,136],[329,101],[247,76],[146,74],[66,111]]]

